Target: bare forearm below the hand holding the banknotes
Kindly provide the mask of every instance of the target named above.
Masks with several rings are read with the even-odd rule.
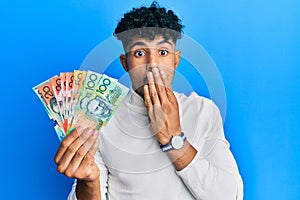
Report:
[[[77,180],[76,197],[78,200],[100,200],[100,180],[94,181],[81,181]]]

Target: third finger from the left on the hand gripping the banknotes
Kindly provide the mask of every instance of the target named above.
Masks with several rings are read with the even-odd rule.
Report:
[[[75,155],[73,156],[72,160],[70,161],[70,164],[68,165],[65,175],[68,177],[72,177],[73,174],[76,172],[78,169],[80,163],[84,159],[85,156],[93,158],[94,154],[92,154],[91,150],[95,145],[95,143],[98,141],[99,137],[99,131],[94,130],[92,135],[86,140],[84,144],[81,145],[81,147],[76,151]]]

